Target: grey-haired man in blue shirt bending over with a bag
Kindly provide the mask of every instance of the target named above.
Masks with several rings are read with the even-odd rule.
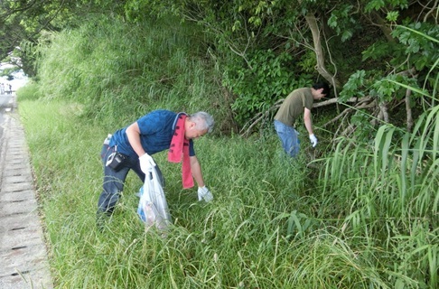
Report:
[[[182,118],[182,124],[184,124],[182,127],[177,126],[179,118]],[[133,170],[140,180],[145,182],[145,173],[155,166],[162,184],[164,184],[162,172],[155,164],[151,154],[169,149],[177,129],[182,129],[184,139],[189,142],[190,170],[199,187],[198,198],[199,200],[212,200],[213,196],[204,184],[201,165],[193,149],[193,139],[210,133],[213,124],[213,117],[202,111],[186,116],[184,113],[154,110],[144,117],[140,117],[130,126],[117,130],[111,136],[109,144],[104,143],[102,147],[104,184],[98,200],[98,217],[102,213],[110,215],[113,212],[120,192],[124,190],[124,182],[129,170]],[[114,166],[114,162],[111,160],[116,153],[119,153],[116,158],[120,162]]]

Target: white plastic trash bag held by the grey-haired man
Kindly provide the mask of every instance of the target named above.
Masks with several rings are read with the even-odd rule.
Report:
[[[140,188],[139,194],[137,213],[145,222],[146,228],[152,226],[160,230],[168,228],[168,225],[172,223],[171,214],[155,168],[146,174],[144,186]]]

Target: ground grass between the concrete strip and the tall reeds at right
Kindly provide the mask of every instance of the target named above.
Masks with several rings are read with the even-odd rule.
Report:
[[[197,141],[215,195],[209,204],[197,201],[196,190],[182,190],[180,166],[157,155],[171,233],[145,232],[135,212],[142,183],[134,174],[99,233],[98,154],[107,131],[70,102],[24,100],[19,110],[58,288],[386,287],[374,247],[315,217],[325,200],[316,182],[306,181],[312,172],[304,160],[281,156],[276,135]]]

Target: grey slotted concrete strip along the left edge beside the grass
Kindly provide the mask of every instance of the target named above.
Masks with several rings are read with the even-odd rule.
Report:
[[[0,289],[53,288],[23,126],[0,95]]]

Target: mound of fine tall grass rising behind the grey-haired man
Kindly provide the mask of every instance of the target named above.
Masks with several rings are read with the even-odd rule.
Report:
[[[228,126],[218,107],[232,99],[220,92],[202,35],[174,19],[133,25],[95,16],[39,46],[42,93],[85,104],[84,115],[108,127],[156,108],[217,109],[217,123]]]

